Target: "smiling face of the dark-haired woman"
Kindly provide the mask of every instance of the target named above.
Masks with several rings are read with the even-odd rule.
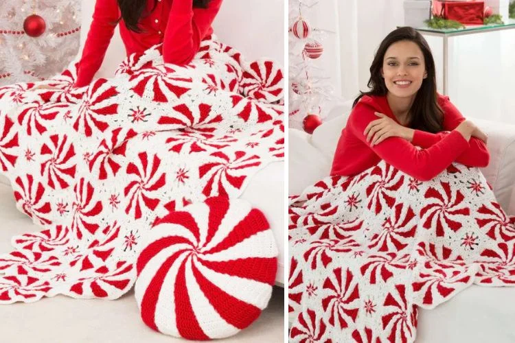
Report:
[[[397,97],[413,97],[427,78],[422,50],[409,40],[393,43],[382,60],[381,75],[390,93]]]

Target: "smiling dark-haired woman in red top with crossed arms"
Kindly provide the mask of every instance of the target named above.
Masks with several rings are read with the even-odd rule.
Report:
[[[353,176],[380,160],[422,181],[453,162],[488,165],[486,135],[437,93],[435,62],[419,32],[411,27],[391,32],[370,75],[370,91],[354,102],[336,147],[332,176]]]

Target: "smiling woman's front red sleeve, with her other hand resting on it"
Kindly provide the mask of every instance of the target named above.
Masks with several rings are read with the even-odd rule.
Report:
[[[468,148],[466,139],[457,131],[450,132],[425,150],[417,149],[415,145],[400,137],[390,137],[371,147],[364,132],[368,124],[376,119],[373,108],[357,104],[347,126],[380,158],[421,181],[431,180],[440,174]]]

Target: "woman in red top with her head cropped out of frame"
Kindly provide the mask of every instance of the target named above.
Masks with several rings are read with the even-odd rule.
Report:
[[[127,56],[163,43],[167,63],[191,62],[213,32],[222,0],[97,0],[78,66],[76,87],[87,86],[104,60],[117,23]]]

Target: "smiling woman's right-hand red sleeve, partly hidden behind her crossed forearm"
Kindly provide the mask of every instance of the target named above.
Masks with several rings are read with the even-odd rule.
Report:
[[[456,106],[448,99],[444,100],[442,110],[444,110],[444,130],[452,131],[465,120],[465,117],[461,115]],[[446,135],[446,132],[432,134],[430,132],[415,130],[412,143],[413,145],[424,148],[431,147],[433,144],[446,137]],[[480,139],[472,137],[468,141],[468,144],[468,149],[456,158],[456,162],[467,165],[468,167],[486,167],[488,163],[490,163],[490,154],[485,143]]]

